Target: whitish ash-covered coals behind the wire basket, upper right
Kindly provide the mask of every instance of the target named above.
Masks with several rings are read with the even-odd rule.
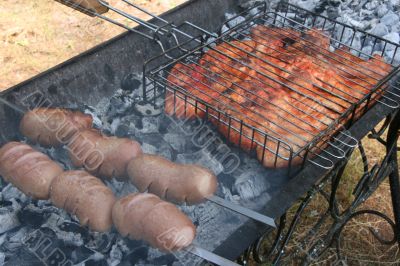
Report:
[[[240,5],[243,7],[250,7],[257,2],[260,1],[238,1]],[[269,8],[274,11],[275,7],[279,4],[279,0],[268,1]],[[289,3],[300,6],[307,10],[313,11],[317,14],[321,14],[327,16],[331,19],[336,19],[340,22],[343,22],[347,25],[354,26],[358,29],[367,31],[371,34],[377,35],[379,37],[383,37],[392,41],[396,44],[399,44],[399,40],[397,38],[400,32],[400,1],[399,0],[290,0]],[[294,18],[294,13],[280,13],[281,16],[285,16],[288,18]],[[227,17],[231,17],[232,14],[226,14]],[[271,25],[273,22],[273,18],[270,17],[267,19],[266,24]],[[278,26],[282,26],[284,19],[280,16],[276,19],[276,24]],[[306,25],[310,26],[312,20],[307,19]],[[329,27],[330,23],[327,23],[327,27]],[[317,26],[322,27],[322,21],[319,23],[317,20]],[[228,30],[228,27],[225,27],[224,30]],[[346,30],[343,35],[343,40],[345,40],[345,44],[350,44],[352,39],[353,32],[351,30]],[[341,35],[341,27],[337,25],[335,28],[334,36],[338,37]],[[381,54],[383,51],[383,45],[379,42],[374,46],[374,50],[372,51],[373,41],[367,40],[364,43],[364,46],[361,47],[362,40],[364,37],[356,36],[353,40],[352,47],[356,50],[361,49],[363,52],[368,55],[372,55],[374,53]],[[336,44],[336,48],[338,44]],[[398,54],[394,54],[394,45],[387,45],[384,52],[385,60],[390,62],[394,57],[394,64],[397,65],[400,63],[400,49],[397,52]],[[363,59],[367,59],[366,55],[360,55],[356,50],[352,50],[352,53],[358,56],[361,56]]]

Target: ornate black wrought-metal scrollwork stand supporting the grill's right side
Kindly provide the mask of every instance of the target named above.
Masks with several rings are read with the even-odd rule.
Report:
[[[382,135],[385,132],[387,132],[386,140],[382,138]],[[400,186],[399,165],[397,163],[397,151],[399,150],[397,141],[399,134],[399,110],[390,113],[379,130],[371,130],[368,137],[371,140],[381,143],[383,147],[386,148],[386,154],[383,160],[374,164],[372,167],[369,165],[362,143],[359,144],[357,149],[361,154],[364,172],[354,187],[354,200],[344,210],[340,211],[338,208],[339,203],[336,192],[340,188],[341,181],[343,181],[343,173],[348,164],[347,160],[339,162],[337,167],[335,167],[335,170],[329,172],[329,174],[327,174],[319,183],[315,184],[313,188],[306,193],[304,198],[300,200],[295,215],[290,222],[287,218],[288,214],[284,213],[280,218],[278,228],[275,230],[269,230],[260,237],[258,241],[246,250],[240,258],[240,262],[245,265],[250,257],[252,257],[258,263],[272,262],[274,265],[280,264],[285,255],[287,255],[285,254],[285,249],[293,237],[293,232],[296,230],[299,221],[304,218],[304,215],[306,215],[304,210],[317,194],[322,195],[322,198],[326,200],[327,208],[317,222],[314,223],[314,226],[308,229],[305,236],[296,240],[302,247],[301,255],[296,257],[296,259],[298,259],[302,265],[308,265],[311,262],[315,262],[331,247],[334,247],[336,250],[337,260],[343,260],[340,244],[341,233],[351,220],[356,219],[361,215],[373,215],[385,221],[393,232],[392,239],[382,239],[378,233],[372,230],[372,228],[369,228],[371,234],[381,244],[395,245],[397,243],[400,247]],[[349,155],[355,150],[356,149],[350,150]],[[380,210],[359,208],[387,177],[390,182],[394,220],[382,213]],[[328,218],[333,222],[328,226],[327,230],[325,229],[323,231],[323,237],[313,239],[312,236],[321,234],[322,225],[328,224]],[[265,246],[268,246],[267,250],[264,250]]]

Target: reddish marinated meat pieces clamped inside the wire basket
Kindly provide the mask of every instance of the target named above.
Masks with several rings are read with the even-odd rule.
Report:
[[[258,25],[249,37],[223,40],[198,62],[176,64],[168,82],[177,90],[167,91],[165,111],[179,118],[207,112],[229,141],[256,149],[266,167],[287,166],[322,131],[338,129],[334,121],[391,70],[379,56],[331,52],[329,37],[317,29],[302,34]],[[319,147],[326,142],[319,139]]]

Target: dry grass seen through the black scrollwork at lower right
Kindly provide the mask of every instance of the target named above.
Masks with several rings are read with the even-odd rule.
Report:
[[[369,159],[370,167],[381,162],[385,155],[385,147],[382,144],[377,141],[372,141],[369,138],[364,138],[362,144]],[[354,200],[353,190],[363,173],[364,170],[360,152],[355,151],[346,166],[341,185],[337,192],[340,210],[346,209]],[[327,187],[329,187],[329,184]],[[325,189],[325,191],[328,192],[327,189]],[[298,206],[299,204],[293,206],[288,211],[288,221],[291,221]],[[296,254],[304,256],[303,250],[307,248],[307,246],[305,247],[301,240],[326,212],[327,208],[328,202],[326,198],[321,194],[317,194],[305,209],[304,217],[300,220],[293,234],[293,239],[290,241],[287,248],[288,254],[292,254],[284,258],[284,264],[296,265],[298,263],[298,261],[296,261],[298,258]],[[384,181],[373,195],[362,203],[358,209],[378,210],[393,220],[388,181]],[[322,225],[320,231],[313,235],[311,239],[318,240],[324,237],[332,222],[333,220],[328,217],[327,223]],[[373,236],[370,232],[370,228],[373,228],[385,240],[393,238],[392,229],[384,220],[372,215],[358,216],[356,219],[351,220],[343,229],[340,238],[341,252],[344,258],[342,263],[344,263],[344,265],[399,265],[400,256],[398,246],[383,245]],[[335,249],[330,248],[321,258],[311,263],[311,265],[332,265],[335,263],[338,263]]]

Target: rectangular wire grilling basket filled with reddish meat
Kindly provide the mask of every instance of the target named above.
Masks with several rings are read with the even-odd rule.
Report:
[[[343,147],[357,144],[340,131],[343,125],[350,125],[377,101],[391,108],[399,106],[399,88],[388,84],[398,72],[398,68],[394,68],[394,58],[400,53],[399,45],[290,4],[282,4],[273,12],[261,5],[239,15],[245,16],[246,20],[218,38],[210,41],[212,36],[203,31],[203,38],[180,42],[180,45],[150,60],[148,64],[160,58],[166,59],[167,63],[152,69],[145,66],[144,76],[148,78],[144,88],[145,98],[155,99],[160,92],[166,91],[166,95],[172,97],[169,101],[173,102],[173,111],[169,114],[183,118],[194,113],[208,119],[234,144],[245,150],[258,148],[258,157],[262,162],[267,161],[269,166],[274,167],[285,165],[289,171],[293,165],[304,165],[306,161],[332,168],[332,157],[343,158]],[[234,19],[236,17],[227,23]],[[257,25],[267,27],[254,30]],[[341,33],[337,34],[339,27]],[[335,34],[339,36],[332,37]],[[339,54],[331,53],[318,42],[313,42],[310,35],[315,37],[314,40],[329,40],[330,49],[347,47],[347,50],[343,49]],[[362,46],[352,46],[354,39],[360,36],[363,36]],[[287,54],[274,47],[273,40],[284,40],[291,53],[312,54],[315,68],[334,65],[342,80],[340,86],[329,80],[316,82],[292,72],[286,67]],[[390,74],[353,62],[354,55],[364,60],[362,62],[372,58],[372,54],[362,51],[363,45],[371,41],[374,47],[380,45],[383,48],[382,55],[389,45],[395,46],[393,57],[388,60],[392,64]],[[296,45],[291,45],[293,43]],[[254,44],[255,49],[252,47]],[[196,48],[189,50],[186,46]],[[241,61],[241,54],[258,62],[259,67]],[[176,64],[180,67],[172,68]],[[251,78],[253,84],[246,87],[249,71],[255,76]],[[288,75],[295,80],[288,79]],[[358,80],[360,84],[353,82],[349,85],[352,81],[349,75],[365,79]],[[171,82],[171,77],[174,82]],[[228,84],[235,86],[236,90]],[[258,93],[264,93],[264,97],[258,97],[254,92],[256,87]],[[343,90],[344,87],[347,89]],[[271,88],[289,91],[291,99],[269,100]],[[212,95],[209,95],[210,92]],[[240,98],[256,108],[243,106],[237,100]],[[277,104],[282,102],[284,107]],[[271,110],[274,111],[272,117],[266,114]],[[296,116],[294,111],[307,119]],[[328,146],[331,149],[327,149]]]

